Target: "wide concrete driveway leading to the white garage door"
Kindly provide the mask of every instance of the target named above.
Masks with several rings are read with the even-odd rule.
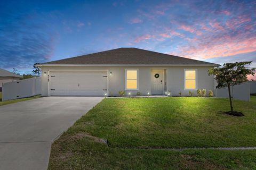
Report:
[[[43,97],[0,106],[0,169],[47,169],[51,143],[103,97]]]

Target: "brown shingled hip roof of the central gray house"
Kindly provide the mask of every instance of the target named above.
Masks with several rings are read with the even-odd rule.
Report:
[[[139,48],[117,48],[104,52],[66,58],[37,65],[211,65],[218,64],[192,60]]]

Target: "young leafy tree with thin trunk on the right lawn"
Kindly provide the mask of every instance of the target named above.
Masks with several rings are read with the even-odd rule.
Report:
[[[217,80],[218,83],[216,88],[228,87],[231,112],[234,112],[234,105],[231,98],[230,86],[246,82],[248,81],[247,75],[254,75],[255,68],[247,69],[247,67],[245,67],[245,65],[250,65],[251,63],[252,62],[225,63],[222,67],[208,70],[209,75],[215,75],[215,80]]]

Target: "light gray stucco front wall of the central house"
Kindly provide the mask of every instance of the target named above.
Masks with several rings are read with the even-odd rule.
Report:
[[[151,94],[151,70],[166,70],[166,90],[171,90],[172,95],[178,95],[179,91],[182,95],[188,95],[188,91],[184,90],[184,69],[197,69],[197,81],[198,88],[208,90],[214,90],[214,79],[207,74],[209,67],[65,67],[65,66],[51,66],[42,67],[42,96],[47,96],[47,75],[44,72],[48,70],[108,70],[112,72],[109,76],[109,95],[119,96],[118,91],[125,91],[125,69],[139,69],[139,92],[142,95],[146,95],[147,92]],[[131,90],[127,90],[130,92]],[[132,94],[135,95],[137,90],[132,90]],[[214,91],[213,91],[214,92]],[[195,91],[196,94],[196,91]]]

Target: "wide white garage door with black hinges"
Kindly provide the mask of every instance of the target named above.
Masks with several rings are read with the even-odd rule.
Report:
[[[51,96],[104,96],[107,71],[50,71]]]

